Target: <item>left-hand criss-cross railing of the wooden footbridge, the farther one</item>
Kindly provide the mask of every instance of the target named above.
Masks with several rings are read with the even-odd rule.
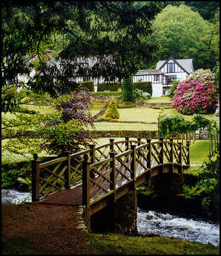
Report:
[[[139,144],[140,139],[129,140],[128,137],[122,141],[110,139],[107,144],[95,146],[90,145],[87,150],[59,157],[51,161],[40,163],[37,154],[34,154],[32,172],[32,201],[36,202],[44,196],[69,189],[71,186],[82,182],[83,156],[88,154],[89,161],[96,163],[109,157],[110,152],[122,153],[130,144]],[[91,170],[93,173],[93,170]]]

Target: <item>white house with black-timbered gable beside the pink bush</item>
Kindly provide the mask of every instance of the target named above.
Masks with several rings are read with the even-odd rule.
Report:
[[[167,95],[171,86],[171,80],[185,80],[194,72],[192,59],[174,60],[169,57],[168,60],[159,60],[156,63],[156,69],[139,70],[133,75],[135,82],[151,82],[153,88],[152,97]]]

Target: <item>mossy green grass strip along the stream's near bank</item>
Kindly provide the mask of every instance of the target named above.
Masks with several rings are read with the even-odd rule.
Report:
[[[121,234],[93,234],[91,244],[114,249],[122,255],[219,255],[220,246],[202,245],[169,237],[128,237]]]

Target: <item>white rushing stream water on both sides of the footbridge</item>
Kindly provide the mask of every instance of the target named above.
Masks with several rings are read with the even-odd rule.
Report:
[[[31,202],[31,194],[11,189],[1,190],[1,203]],[[192,242],[220,245],[220,224],[211,221],[197,220],[164,214],[159,211],[137,209],[137,229],[139,235],[156,235],[174,237]]]

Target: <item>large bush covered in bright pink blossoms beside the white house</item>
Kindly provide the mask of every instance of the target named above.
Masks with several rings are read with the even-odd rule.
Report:
[[[174,91],[173,106],[182,114],[205,114],[216,109],[214,74],[199,69]]]

